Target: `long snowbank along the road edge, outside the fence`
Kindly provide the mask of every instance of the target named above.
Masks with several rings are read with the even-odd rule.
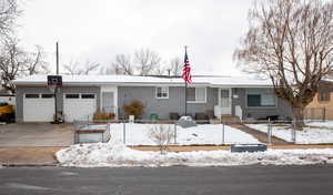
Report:
[[[269,150],[258,153],[230,151],[198,151],[160,154],[127,147],[122,143],[72,145],[57,152],[61,166],[120,167],[120,166],[232,166],[232,165],[306,165],[333,164],[333,150]]]

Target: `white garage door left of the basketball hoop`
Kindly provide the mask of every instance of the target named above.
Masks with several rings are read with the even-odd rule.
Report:
[[[53,94],[27,93],[23,98],[24,122],[53,121],[54,98]]]

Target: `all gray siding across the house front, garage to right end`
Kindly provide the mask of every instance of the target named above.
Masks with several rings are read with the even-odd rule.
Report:
[[[268,89],[256,89],[268,90]],[[23,95],[26,93],[50,93],[47,86],[17,86],[17,121],[23,121]],[[59,111],[63,111],[63,94],[64,93],[94,93],[97,94],[97,106],[100,107],[100,86],[63,86],[58,93],[57,105]],[[232,89],[232,115],[235,115],[235,106],[242,107],[243,119],[254,117],[261,119],[268,115],[279,115],[286,117],[292,115],[291,107],[287,102],[282,99],[278,99],[276,106],[272,107],[249,107],[246,104],[248,89],[234,88]],[[238,95],[238,98],[235,98]],[[185,93],[182,86],[169,86],[169,99],[157,99],[154,86],[118,86],[118,106],[119,116],[123,115],[121,109],[124,104],[130,103],[133,100],[139,100],[143,103],[144,115],[143,119],[149,119],[151,114],[155,113],[160,119],[169,119],[171,112],[183,115],[185,107]],[[208,110],[214,110],[219,101],[219,89],[206,88],[206,102],[205,103],[188,103],[188,114],[192,116],[199,112],[205,112]],[[84,105],[82,105],[84,106]]]

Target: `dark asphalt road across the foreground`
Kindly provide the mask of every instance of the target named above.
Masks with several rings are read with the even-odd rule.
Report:
[[[333,166],[0,168],[0,194],[321,195]]]

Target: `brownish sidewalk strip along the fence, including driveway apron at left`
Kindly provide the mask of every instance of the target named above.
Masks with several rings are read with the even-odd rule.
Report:
[[[3,166],[56,166],[56,152],[63,147],[0,147],[0,165]],[[159,151],[158,146],[131,146],[138,151]],[[203,146],[170,146],[170,152],[192,151],[230,151],[230,145],[203,145]],[[292,150],[292,148],[333,148],[327,145],[271,145],[269,148]]]

